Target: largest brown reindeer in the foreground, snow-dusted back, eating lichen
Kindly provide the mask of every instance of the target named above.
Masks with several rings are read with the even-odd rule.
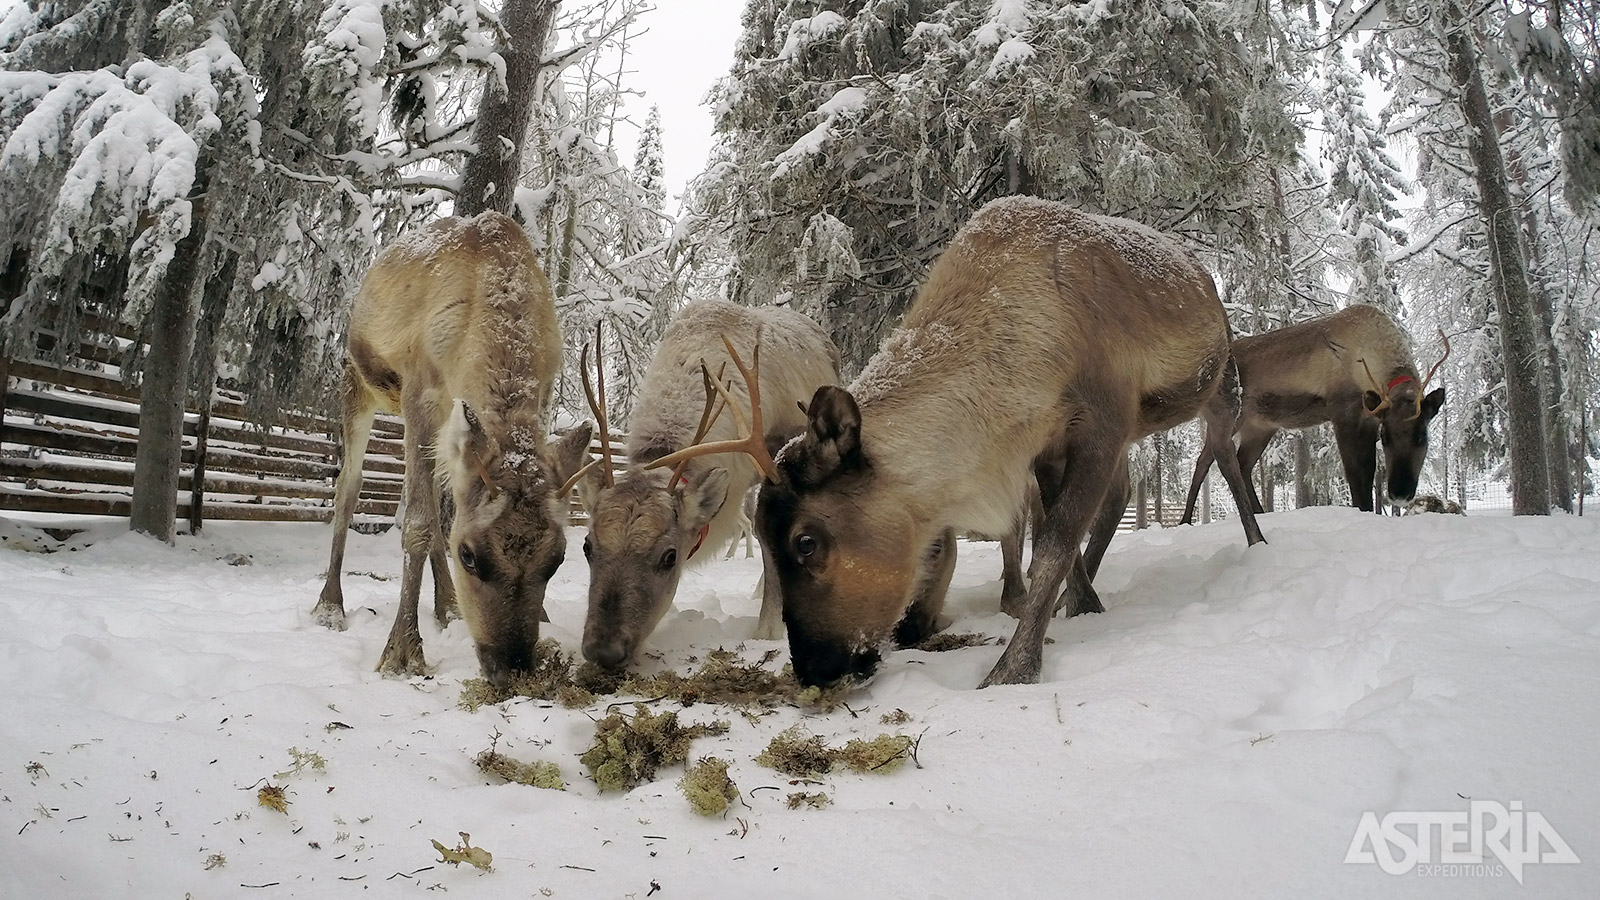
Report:
[[[1202,410],[1232,432],[1210,402],[1232,380],[1227,344],[1211,277],[1176,242],[1008,197],[955,235],[854,384],[818,389],[776,461],[757,416],[744,440],[678,456],[760,458],[757,536],[808,685],[870,676],[886,642],[928,636],[955,532],[1011,528],[1032,466],[1045,509],[1034,578],[984,684],[1034,682],[1062,581],[1069,612],[1101,609],[1078,541],[1122,517],[1107,496],[1126,495],[1128,447]],[[1224,474],[1242,498],[1238,468]]]

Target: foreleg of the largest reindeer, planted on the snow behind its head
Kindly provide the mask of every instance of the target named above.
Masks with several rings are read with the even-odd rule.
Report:
[[[1062,472],[1067,480],[1051,500],[1045,479],[1040,477],[1040,498],[1045,501],[1045,520],[1040,527],[1034,556],[1034,578],[1027,586],[1027,602],[1016,633],[1006,644],[995,668],[979,687],[992,684],[1035,684],[1043,668],[1045,631],[1054,610],[1056,589],[1072,575],[1067,609],[1099,607],[1099,597],[1090,585],[1088,572],[1078,552],[1090,524],[1106,500],[1107,487],[1117,468],[1126,464],[1126,423],[1085,407],[1085,421],[1072,428],[1062,453]],[[1035,469],[1038,464],[1035,461]]]

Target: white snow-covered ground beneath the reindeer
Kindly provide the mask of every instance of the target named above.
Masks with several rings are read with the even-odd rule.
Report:
[[[859,717],[805,722],[842,741],[904,709],[922,769],[829,777],[810,788],[829,809],[786,809],[798,788],[752,761],[800,709],[685,709],[731,721],[694,756],[731,761],[749,804],[706,820],[678,772],[597,794],[576,757],[598,709],[458,709],[477,674],[461,623],[424,623],[435,677],[376,676],[394,533],[352,535],[357,613],[333,634],[307,617],[326,527],[218,522],[166,548],[102,525],[42,554],[0,522],[0,897],[1594,897],[1600,520],[1304,509],[1262,527],[1248,551],[1234,522],[1118,535],[1109,612],[1051,626],[1043,684],[974,690],[998,647],[894,653]],[[550,588],[570,650],[579,544]],[[653,642],[666,663],[741,644],[757,569],[685,578]],[[955,631],[1011,633],[997,577],[997,544],[963,544]],[[496,730],[568,790],[478,773]],[[277,778],[285,815],[256,788],[290,748],[326,772]],[[1344,862],[1363,812],[1469,799],[1520,801],[1582,862],[1520,886]],[[458,831],[494,871],[435,862],[430,839]]]

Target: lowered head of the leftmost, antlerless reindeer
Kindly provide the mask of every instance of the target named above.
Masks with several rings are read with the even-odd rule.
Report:
[[[533,668],[544,589],[566,556],[565,493],[557,485],[587,455],[589,426],[542,447],[530,444],[522,429],[486,421],[462,400],[438,437],[456,601],[494,685]]]

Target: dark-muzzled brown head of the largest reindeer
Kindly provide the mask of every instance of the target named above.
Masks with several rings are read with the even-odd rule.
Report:
[[[782,586],[795,677],[829,685],[877,669],[939,532],[874,471],[848,391],[819,388],[806,415],[762,485],[755,527]]]

